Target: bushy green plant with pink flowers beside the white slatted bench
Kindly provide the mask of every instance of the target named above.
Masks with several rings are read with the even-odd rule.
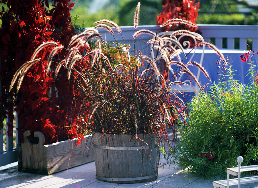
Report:
[[[181,142],[169,153],[171,162],[204,178],[226,177],[226,168],[237,166],[237,156],[243,156],[242,166],[258,162],[257,67],[249,65],[248,85],[234,79],[231,66],[223,67],[212,91],[201,91],[189,103]]]

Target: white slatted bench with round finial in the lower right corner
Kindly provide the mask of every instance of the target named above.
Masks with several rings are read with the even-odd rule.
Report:
[[[214,188],[216,187],[229,188],[229,186],[232,186],[232,185],[238,185],[238,188],[240,188],[241,184],[258,182],[258,176],[241,178],[241,175],[240,175],[241,172],[258,170],[258,165],[241,167],[241,162],[243,162],[242,156],[237,157],[236,161],[238,162],[238,167],[227,168],[227,179],[213,181],[212,185],[214,186]],[[238,178],[229,179],[229,175],[238,176]]]

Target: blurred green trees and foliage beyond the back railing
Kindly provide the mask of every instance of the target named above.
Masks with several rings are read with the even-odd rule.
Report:
[[[161,0],[72,0],[75,3],[72,16],[79,16],[78,25],[93,26],[100,19],[111,19],[119,26],[132,26],[132,13],[137,2],[141,2],[139,25],[155,25],[156,17],[163,9]],[[197,1],[196,1],[197,2]],[[236,0],[200,0],[197,24],[257,24],[257,6],[251,7],[250,13],[238,13],[241,8],[247,8],[246,3]]]

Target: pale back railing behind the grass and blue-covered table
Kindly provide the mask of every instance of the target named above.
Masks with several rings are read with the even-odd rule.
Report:
[[[135,29],[133,26],[123,26],[121,28],[122,36],[115,34],[114,37],[122,44],[124,44],[124,41],[125,43],[128,43],[129,40],[132,40],[132,34]],[[156,25],[138,26],[137,30],[140,29],[148,29],[155,33],[161,32],[161,28]],[[218,48],[222,48],[222,40],[226,40],[226,46],[223,46],[224,48],[247,50],[247,40],[251,39],[252,49],[256,52],[258,51],[258,26],[256,25],[198,25],[198,30],[202,32],[202,36],[206,42],[210,42],[211,38],[214,38],[215,45]],[[114,41],[114,37],[108,32],[105,32],[103,29],[99,29],[99,31],[100,34],[104,36],[104,39],[107,41]],[[136,49],[144,49],[144,51],[148,50],[148,53],[150,53],[150,48],[144,43],[144,41],[146,42],[146,39],[150,38],[151,36],[147,34],[141,35],[140,39],[136,40]],[[239,47],[234,46],[236,40],[239,41]]]

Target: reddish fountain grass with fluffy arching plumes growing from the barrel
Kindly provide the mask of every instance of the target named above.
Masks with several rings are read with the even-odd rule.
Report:
[[[74,87],[81,93],[82,105],[77,108],[78,121],[76,125],[71,125],[76,126],[74,131],[78,135],[82,136],[85,132],[100,132],[130,134],[138,138],[141,133],[144,135],[155,133],[161,141],[164,138],[169,142],[166,127],[168,124],[173,127],[173,122],[170,121],[171,111],[186,110],[183,100],[177,96],[180,92],[174,89],[175,85],[185,83],[174,79],[180,75],[186,75],[200,86],[195,75],[187,68],[188,64],[197,66],[209,78],[208,73],[197,62],[181,61],[178,56],[181,51],[169,45],[172,41],[179,46],[172,40],[172,36],[182,34],[192,36],[199,41],[199,45],[214,49],[225,64],[226,60],[215,46],[200,42],[198,35],[187,30],[177,30],[171,37],[165,38],[160,38],[157,33],[149,30],[137,30],[139,11],[140,3],[134,14],[135,33],[127,44],[121,46],[116,41],[115,34],[122,35],[122,30],[116,23],[106,19],[97,21],[94,23],[97,25],[95,28],[88,28],[81,34],[73,36],[65,48],[53,41],[40,45],[31,60],[15,73],[11,87],[17,79],[17,90],[19,90],[23,75],[39,60],[34,58],[36,54],[44,47],[51,46],[48,70],[52,63],[60,64],[61,68],[67,69],[68,79],[73,78]],[[162,26],[177,23],[197,27],[189,21],[178,18],[168,20]],[[110,47],[96,28],[104,28],[114,36],[113,47]],[[154,44],[155,48],[160,47],[156,48],[159,49],[156,58],[142,55],[141,51],[136,50],[135,41],[142,35],[150,36],[150,40],[146,41],[148,44]],[[87,48],[80,53],[79,48],[82,46]],[[60,50],[66,52],[66,58],[63,60],[55,58],[55,54]],[[114,51],[116,51],[115,55]],[[159,69],[161,59],[165,59],[165,72]],[[175,70],[173,75],[169,76],[171,79],[168,79],[165,75],[168,75],[166,74],[168,69],[172,69],[171,65],[175,66]]]

